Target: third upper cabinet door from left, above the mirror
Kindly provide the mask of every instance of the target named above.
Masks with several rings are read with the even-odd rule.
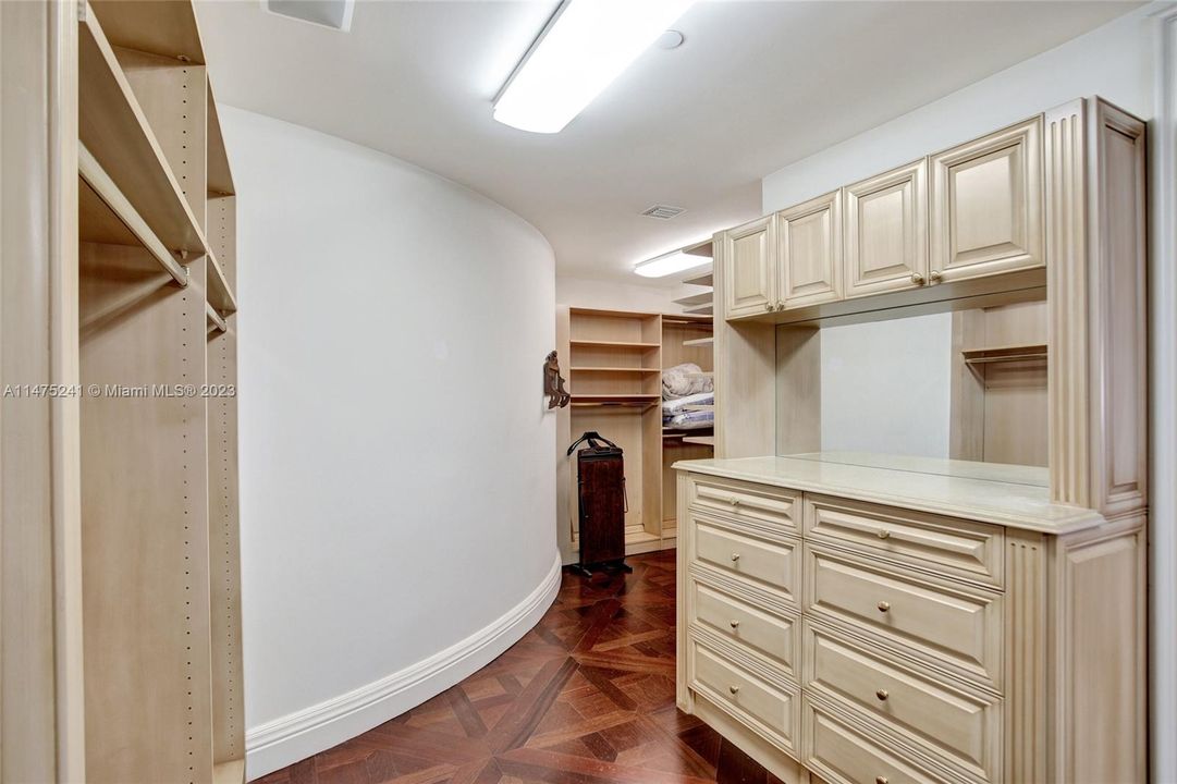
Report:
[[[846,298],[927,280],[927,159],[843,188]]]

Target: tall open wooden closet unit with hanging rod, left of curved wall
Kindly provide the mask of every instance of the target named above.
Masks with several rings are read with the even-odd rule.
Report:
[[[232,173],[191,2],[78,33],[86,779],[240,784]]]

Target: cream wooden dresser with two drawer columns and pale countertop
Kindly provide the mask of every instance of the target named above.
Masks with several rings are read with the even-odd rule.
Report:
[[[1144,514],[1046,469],[678,470],[678,704],[785,782],[1143,782]]]

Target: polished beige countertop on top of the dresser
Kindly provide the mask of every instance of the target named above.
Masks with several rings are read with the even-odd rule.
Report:
[[[1100,525],[1092,510],[1050,503],[1046,469],[863,452],[680,460],[679,471],[962,517],[1044,533]]]

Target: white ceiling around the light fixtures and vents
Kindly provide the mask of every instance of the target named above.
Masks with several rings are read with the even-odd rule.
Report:
[[[760,214],[760,178],[1125,13],[1128,2],[698,2],[563,133],[491,119],[556,0],[359,0],[351,33],[198,2],[218,99],[381,150],[531,221],[560,274]],[[232,151],[230,151],[232,154]],[[639,215],[685,207],[669,221]]]

